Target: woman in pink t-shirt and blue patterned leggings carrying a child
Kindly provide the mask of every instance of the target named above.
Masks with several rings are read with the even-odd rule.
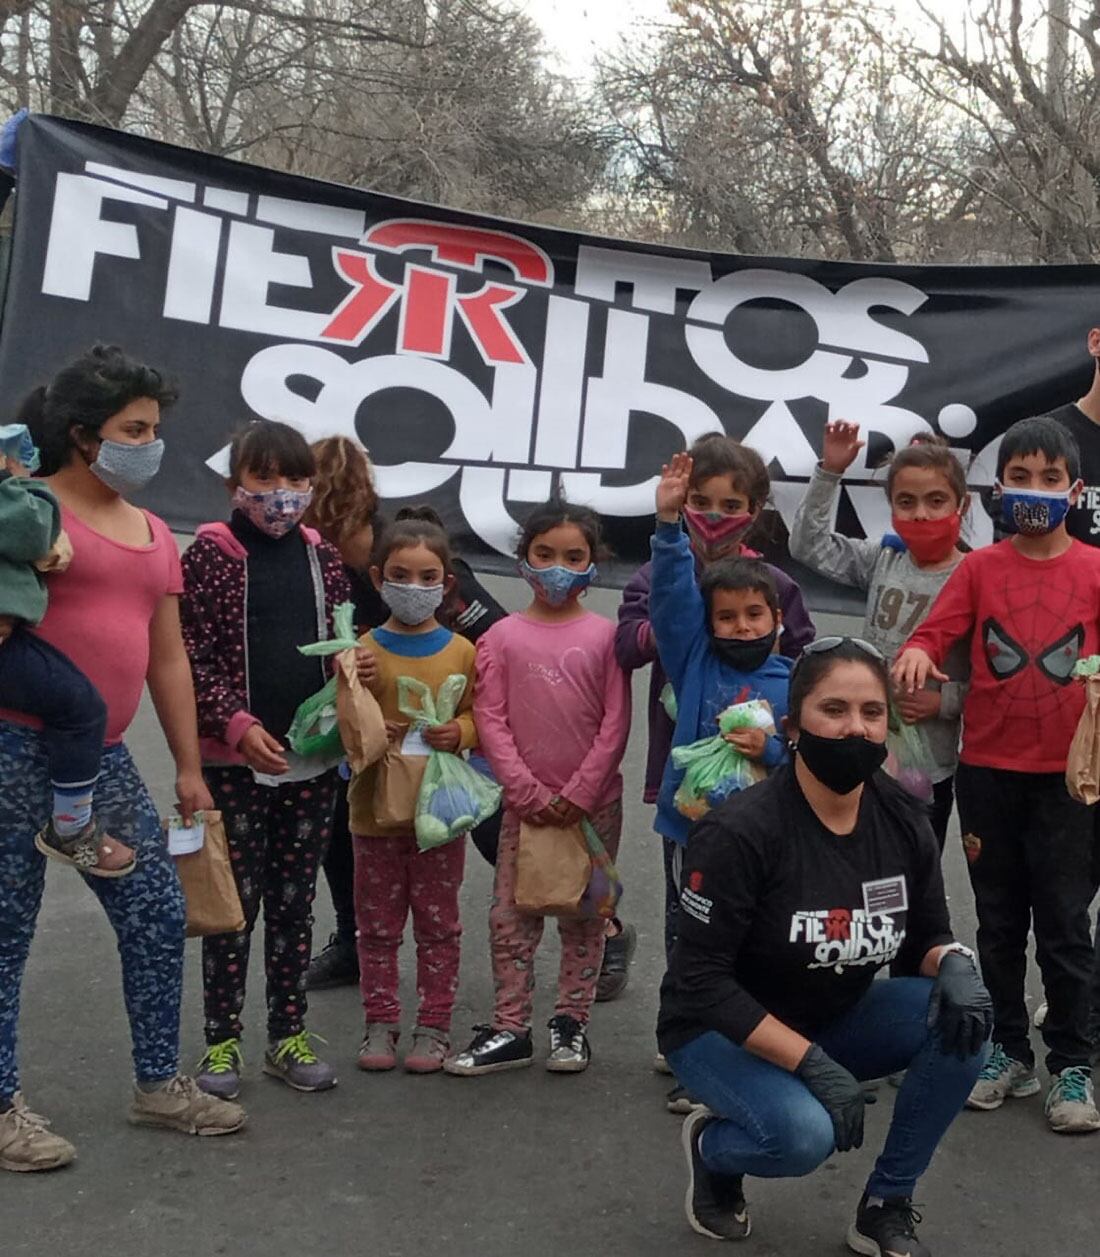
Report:
[[[97,346],[24,403],[73,544],[34,631],[72,659],[107,705],[96,807],[137,856],[126,877],[85,879],[118,938],[136,1076],[129,1120],[221,1135],[240,1129],[244,1111],[177,1071],[184,899],[156,807],[122,744],[148,684],[176,760],[181,815],[212,806],[180,635],[176,543],[162,520],[124,498],[156,474],[161,406],[173,400],[160,372]],[[0,1169],[57,1169],[74,1149],[26,1107],[15,1061],[19,989],[45,880],[34,836],[52,804],[41,733],[18,711],[0,711]]]

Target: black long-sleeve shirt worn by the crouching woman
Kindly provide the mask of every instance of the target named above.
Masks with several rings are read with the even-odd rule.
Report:
[[[782,767],[691,828],[681,886],[665,1053],[712,1029],[742,1043],[767,1013],[815,1038],[880,968],[915,974],[952,940],[932,827],[883,773],[855,831],[837,836]]]

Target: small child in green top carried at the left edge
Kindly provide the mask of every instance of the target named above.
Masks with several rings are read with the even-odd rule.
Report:
[[[107,708],[84,674],[31,631],[47,608],[41,573],[64,569],[73,553],[57,498],[28,478],[38,463],[24,424],[0,426],[0,709],[43,724],[54,803],[35,846],[82,872],[123,877],[135,869],[133,851],[92,815]]]

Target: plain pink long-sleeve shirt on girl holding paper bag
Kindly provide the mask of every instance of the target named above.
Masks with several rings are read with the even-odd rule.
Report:
[[[556,794],[595,812],[622,796],[630,683],[615,625],[586,611],[546,623],[518,612],[478,642],[474,719],[504,801],[520,816]]]

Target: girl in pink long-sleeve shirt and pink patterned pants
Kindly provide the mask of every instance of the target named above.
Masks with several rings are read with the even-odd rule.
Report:
[[[489,935],[497,1003],[493,1024],[450,1057],[449,1073],[476,1075],[532,1062],[534,953],[543,918],[515,908],[519,822],[566,827],[587,817],[612,859],[622,827],[619,764],[630,733],[630,688],[615,659],[615,625],[580,597],[596,574],[600,522],[585,507],[551,502],[527,522],[517,551],[534,597],[478,642],[474,718],[481,750],[504,788],[504,822]],[[558,999],[547,1068],[588,1065],[585,1033],[603,957],[602,920],[561,918]]]

